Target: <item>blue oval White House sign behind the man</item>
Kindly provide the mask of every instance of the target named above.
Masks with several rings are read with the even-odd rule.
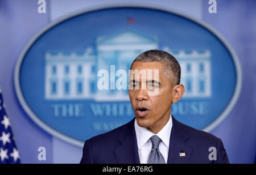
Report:
[[[39,32],[16,65],[20,104],[43,129],[82,146],[134,117],[128,90],[97,88],[98,70],[114,76],[128,71],[150,49],[165,50],[180,63],[186,91],[172,106],[175,118],[209,131],[228,115],[240,93],[241,71],[222,37],[184,15],[135,6],[85,11]],[[110,84],[117,81],[109,76]]]

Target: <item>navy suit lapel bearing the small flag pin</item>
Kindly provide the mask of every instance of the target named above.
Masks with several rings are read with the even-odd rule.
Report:
[[[183,130],[181,123],[172,117],[172,131],[167,161],[168,164],[189,163],[192,148],[185,144],[188,139],[189,135]],[[185,156],[180,156],[181,152],[184,152]]]

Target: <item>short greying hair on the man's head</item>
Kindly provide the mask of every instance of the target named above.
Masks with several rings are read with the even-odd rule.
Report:
[[[139,56],[134,59],[133,63],[135,61],[163,63],[167,69],[167,74],[171,78],[172,85],[180,84],[180,64],[170,53],[164,52],[163,50],[147,50],[146,52],[139,54]],[[133,63],[131,63],[131,67],[133,66]],[[172,75],[170,75],[170,72]]]

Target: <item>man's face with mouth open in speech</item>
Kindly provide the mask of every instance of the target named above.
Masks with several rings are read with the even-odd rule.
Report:
[[[165,125],[170,118],[172,104],[172,82],[165,74],[165,67],[160,62],[135,61],[131,70],[152,71],[152,78],[147,76],[145,79],[140,74],[138,80],[138,76],[129,76],[129,97],[138,125],[149,130],[160,127],[163,123]],[[154,70],[159,70],[158,78]],[[143,85],[146,89],[142,88]],[[158,93],[150,95],[155,86],[158,86]]]

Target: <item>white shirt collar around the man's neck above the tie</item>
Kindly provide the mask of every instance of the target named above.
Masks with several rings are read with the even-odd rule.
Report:
[[[170,117],[166,125],[157,134],[151,133],[151,131],[146,129],[146,127],[139,126],[136,119],[134,121],[134,127],[139,150],[141,150],[141,148],[144,146],[147,140],[151,138],[152,135],[158,135],[162,142],[166,145],[166,147],[169,148],[172,130],[172,117]]]

